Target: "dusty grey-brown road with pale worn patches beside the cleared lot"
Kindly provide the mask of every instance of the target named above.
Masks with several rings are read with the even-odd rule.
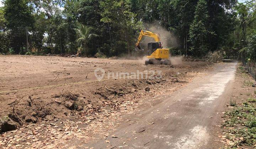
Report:
[[[214,123],[229,100],[237,63],[217,65],[164,98],[161,103],[127,115],[129,124],[100,134],[80,147],[94,148],[209,148],[214,143]],[[112,137],[111,137],[112,136]],[[111,144],[111,145],[110,145]]]

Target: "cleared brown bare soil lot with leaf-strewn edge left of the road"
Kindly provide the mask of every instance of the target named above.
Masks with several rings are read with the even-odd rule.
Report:
[[[149,105],[156,104],[158,101],[150,103],[149,97],[169,95],[193,77],[203,75],[210,65],[209,62],[169,66],[143,63],[143,60],[0,56],[0,117],[2,121],[10,117],[9,123],[20,128],[2,133],[0,148],[65,147],[74,137],[87,142],[95,133],[119,125],[122,113],[138,110],[143,100]],[[97,80],[94,70],[99,67],[106,73],[163,72],[162,78],[94,82]],[[107,75],[103,79],[106,78]],[[146,92],[146,87],[150,91]]]

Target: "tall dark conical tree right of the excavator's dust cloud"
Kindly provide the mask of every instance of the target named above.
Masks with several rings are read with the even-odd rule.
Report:
[[[207,21],[209,19],[207,2],[205,0],[199,0],[196,6],[195,16],[193,23],[190,26],[190,40],[191,40],[191,51],[197,55],[205,55],[209,49]]]

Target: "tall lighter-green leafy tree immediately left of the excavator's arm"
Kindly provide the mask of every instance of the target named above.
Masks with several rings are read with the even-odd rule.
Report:
[[[107,23],[112,29],[110,30],[112,53],[130,55],[136,42],[135,33],[142,28],[142,23],[135,20],[135,14],[131,12],[130,1],[105,0],[100,6],[103,10],[101,21]]]

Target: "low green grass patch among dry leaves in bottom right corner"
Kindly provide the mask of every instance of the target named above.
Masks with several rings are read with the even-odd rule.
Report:
[[[256,99],[248,98],[247,102],[236,104],[235,109],[225,112],[225,117],[223,140],[230,148],[256,147]]]

